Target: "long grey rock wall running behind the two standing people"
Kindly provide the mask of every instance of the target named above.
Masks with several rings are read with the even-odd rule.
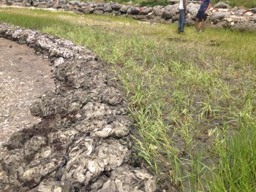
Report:
[[[3,0],[4,1],[4,0]],[[5,1],[4,1],[5,2]],[[6,2],[5,2],[6,3]],[[72,11],[78,14],[97,14],[97,15],[122,15],[130,16],[137,20],[151,23],[176,23],[179,18],[178,4],[168,6],[140,7],[123,5],[117,3],[94,3],[83,1],[52,1],[52,0],[7,0],[7,4],[20,6],[54,8]],[[187,5],[189,14],[188,25],[194,25],[195,15],[200,4],[191,2]],[[213,4],[211,11],[208,12],[207,22],[209,26],[238,28],[256,32],[256,8],[239,9],[229,7],[227,4],[219,2]]]

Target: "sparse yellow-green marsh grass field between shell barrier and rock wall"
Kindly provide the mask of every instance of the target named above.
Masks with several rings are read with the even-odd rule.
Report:
[[[195,34],[187,28],[187,36],[181,37],[176,26],[129,18],[0,11],[1,22],[72,40],[110,64],[140,134],[135,151],[158,176],[161,188],[172,183],[180,191],[230,191],[226,184],[237,174],[230,173],[230,157],[235,156],[230,149],[243,159],[252,156],[256,146],[246,145],[255,140],[244,133],[246,142],[240,147],[247,150],[239,153],[240,131],[255,129],[255,34],[214,29]],[[236,166],[255,166],[254,159],[244,162]],[[246,186],[237,185],[252,191],[255,183],[249,178],[244,182],[245,172],[241,182]],[[249,177],[255,169],[251,173]]]

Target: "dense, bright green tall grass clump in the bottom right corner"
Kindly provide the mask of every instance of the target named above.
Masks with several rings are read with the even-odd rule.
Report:
[[[256,191],[255,126],[241,127],[219,147],[219,166],[209,182],[211,191]]]

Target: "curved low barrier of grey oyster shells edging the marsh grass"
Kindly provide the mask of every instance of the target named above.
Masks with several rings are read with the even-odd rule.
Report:
[[[127,164],[127,103],[97,55],[15,26],[0,24],[0,37],[45,55],[56,84],[31,105],[42,121],[4,144],[0,191],[156,191],[151,174]]]

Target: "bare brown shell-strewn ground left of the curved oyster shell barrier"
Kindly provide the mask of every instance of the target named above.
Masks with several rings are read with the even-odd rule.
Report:
[[[29,107],[54,91],[48,59],[26,45],[0,38],[0,146],[10,134],[39,122]]]

